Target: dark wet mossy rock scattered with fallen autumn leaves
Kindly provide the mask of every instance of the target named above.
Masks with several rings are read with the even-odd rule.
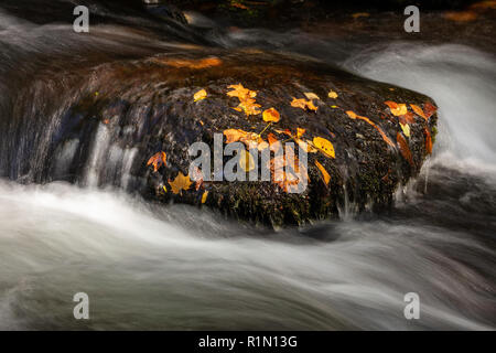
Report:
[[[67,93],[75,98],[54,125],[56,138],[42,157],[50,161],[43,172],[45,181],[87,182],[93,173],[91,180],[99,185],[126,188],[164,204],[206,206],[272,226],[336,217],[339,205],[346,202],[358,211],[370,205],[374,210],[388,207],[398,185],[416,176],[428,156],[425,129],[435,137],[436,115],[427,121],[409,106],[433,105],[429,97],[308,57],[191,49],[104,64],[84,76],[87,78],[77,81],[77,89]],[[287,193],[270,181],[208,182],[200,190],[192,185],[180,194],[171,192],[169,181],[179,172],[188,173],[194,157],[187,149],[193,142],[204,141],[213,148],[214,133],[226,129],[260,132],[267,126],[261,114],[247,116],[233,109],[239,100],[226,93],[234,84],[257,92],[261,110],[273,107],[280,113],[280,121],[262,133],[263,139],[272,132],[283,140],[288,137],[276,129],[294,133],[303,128],[308,139],[322,137],[333,143],[335,159],[309,153],[310,182],[303,193]],[[205,89],[207,97],[194,101],[200,89]],[[330,98],[330,90],[337,97]],[[304,93],[320,97],[313,99],[316,111],[290,105],[293,97],[305,98]],[[397,135],[403,132],[387,100],[407,104],[412,113],[410,137],[403,137],[411,151],[410,162],[397,143]],[[348,110],[358,117],[352,119]],[[385,141],[379,129],[393,146]],[[69,162],[61,167],[57,161],[61,156],[67,159],[69,141],[77,141],[77,146],[72,147]],[[160,151],[166,153],[166,165],[159,165],[155,172],[147,161]],[[315,161],[331,175],[328,185]],[[205,190],[208,195],[202,204]]]

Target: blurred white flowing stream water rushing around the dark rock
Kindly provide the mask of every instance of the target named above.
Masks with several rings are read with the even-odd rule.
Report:
[[[34,25],[4,12],[0,20],[1,124],[20,118],[6,115],[15,111],[18,86],[30,84],[19,77],[47,56],[89,65],[177,45],[125,26],[103,25],[82,39],[63,24]],[[12,179],[30,180],[30,171],[9,161],[26,158],[30,139],[43,137],[35,129],[1,136],[0,329],[495,329],[493,54],[462,45],[339,43],[298,31],[212,40],[224,47],[279,45],[430,95],[440,107],[433,157],[398,190],[387,214],[354,215],[352,205],[343,221],[274,233],[90,188],[98,148],[86,186],[20,184]],[[35,99],[62,109],[71,97]],[[122,165],[133,158],[115,156]],[[57,158],[63,165],[67,156]],[[77,292],[89,296],[90,320],[73,317]],[[407,292],[419,295],[419,320],[403,315]]]

